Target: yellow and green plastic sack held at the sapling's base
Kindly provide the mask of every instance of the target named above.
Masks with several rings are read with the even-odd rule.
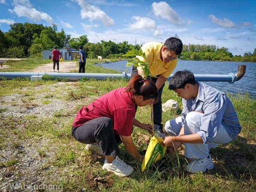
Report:
[[[160,143],[163,142],[163,139],[158,137],[152,137],[150,143],[147,148],[147,152],[145,154],[144,160],[142,162],[142,172],[152,166],[152,164],[165,155],[165,151],[167,149],[166,146],[162,146]]]

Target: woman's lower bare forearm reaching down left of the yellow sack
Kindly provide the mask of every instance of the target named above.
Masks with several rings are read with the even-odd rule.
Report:
[[[120,136],[120,137],[129,154],[132,155],[132,157],[135,157],[139,162],[142,162],[144,156],[139,155],[139,152],[137,151],[133,143],[132,137],[131,136]]]

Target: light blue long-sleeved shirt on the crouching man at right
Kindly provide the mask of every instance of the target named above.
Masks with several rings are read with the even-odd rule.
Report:
[[[231,139],[236,138],[242,127],[230,98],[205,83],[198,82],[198,85],[199,89],[195,100],[193,98],[189,100],[182,99],[182,127],[184,127],[187,113],[201,112],[204,115],[201,119],[200,131],[197,134],[203,139],[204,143],[210,143],[215,139],[221,124]]]

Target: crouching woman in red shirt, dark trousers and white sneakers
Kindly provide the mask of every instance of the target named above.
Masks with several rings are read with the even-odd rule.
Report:
[[[156,84],[137,74],[129,80],[126,87],[108,92],[82,107],[72,124],[72,135],[79,142],[90,144],[87,148],[94,146],[100,149],[106,157],[103,169],[118,176],[129,176],[133,168],[118,157],[118,140],[121,138],[132,157],[143,161],[144,156],[139,155],[132,140],[132,125],[150,133],[152,126],[134,118],[135,104],[139,107],[151,105],[156,103],[158,97]]]

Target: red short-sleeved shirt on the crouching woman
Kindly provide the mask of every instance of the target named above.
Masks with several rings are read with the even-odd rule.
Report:
[[[85,122],[108,117],[114,124],[114,133],[121,136],[132,134],[132,120],[135,116],[135,101],[132,94],[125,92],[126,88],[118,88],[108,92],[88,106],[82,107],[76,115],[73,127],[79,127]]]

